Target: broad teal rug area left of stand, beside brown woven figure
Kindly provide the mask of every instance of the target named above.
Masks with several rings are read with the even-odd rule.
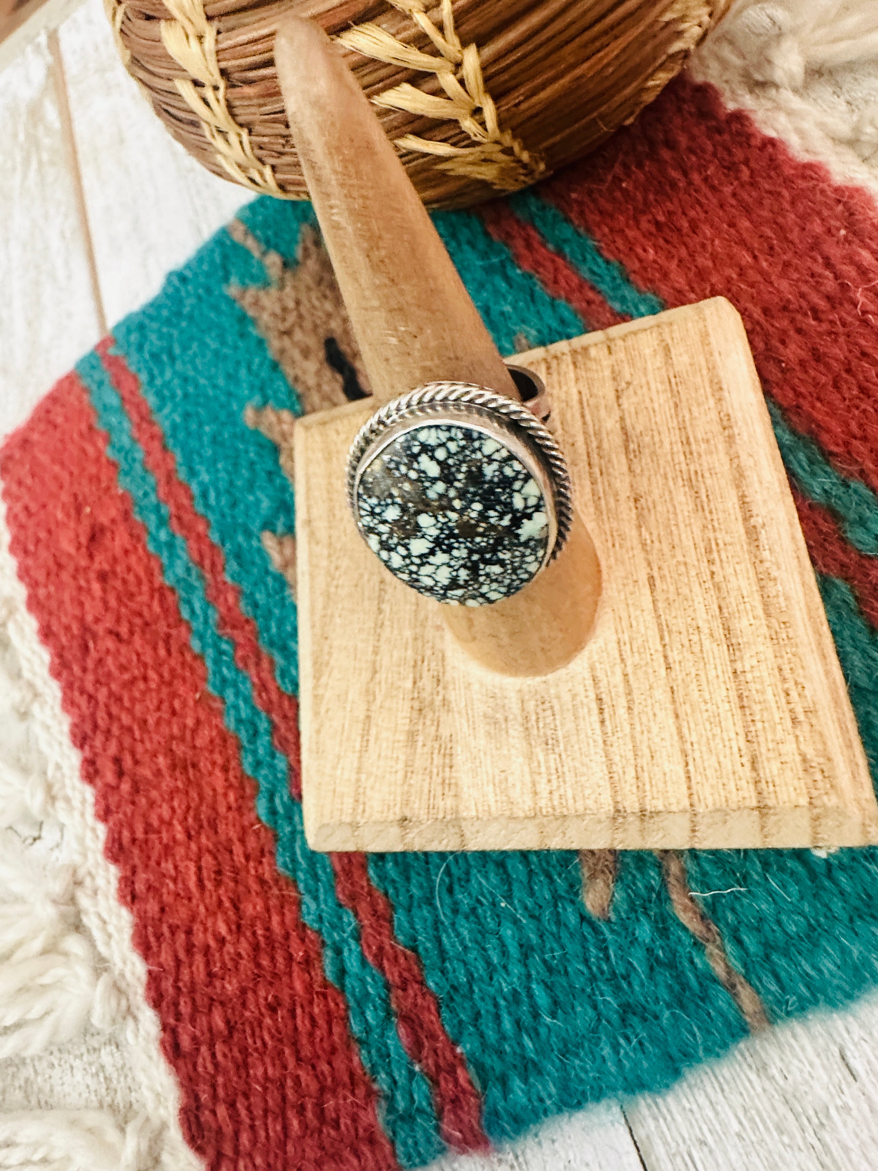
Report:
[[[266,283],[262,265],[219,232],[114,336],[222,548],[226,575],[241,589],[241,608],[259,626],[277,682],[295,694],[296,607],[260,537],[265,529],[293,532],[293,492],[277,474],[273,445],[254,434],[243,412],[252,403],[300,413],[299,399],[247,315],[224,294]]]

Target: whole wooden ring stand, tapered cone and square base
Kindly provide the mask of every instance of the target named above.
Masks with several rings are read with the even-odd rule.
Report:
[[[309,843],[877,841],[855,717],[728,302],[516,357],[547,385],[578,523],[515,597],[440,607],[362,542],[344,464],[382,402],[432,378],[516,391],[324,34],[291,19],[276,56],[375,391],[295,431]]]

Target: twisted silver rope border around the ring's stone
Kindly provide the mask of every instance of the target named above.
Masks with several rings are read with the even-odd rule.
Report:
[[[425,408],[430,413],[433,409],[439,413],[439,409],[446,405],[462,406],[464,413],[467,413],[466,409],[469,408],[468,413],[482,420],[491,419],[493,416],[498,424],[498,438],[501,438],[503,432],[517,433],[534,457],[540,460],[551,487],[556,525],[555,543],[544,563],[554,561],[564,546],[574,520],[572,486],[564,454],[548,427],[527,406],[475,383],[428,382],[418,386],[417,390],[400,395],[399,398],[392,398],[379,408],[371,418],[366,419],[350,446],[345,470],[348,505],[354,520],[357,520],[357,471],[363,457],[376,439],[383,431],[405,419],[409,415],[414,420]]]

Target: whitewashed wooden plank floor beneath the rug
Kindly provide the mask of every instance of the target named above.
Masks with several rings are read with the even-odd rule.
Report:
[[[0,434],[247,200],[160,128],[116,57],[100,0],[4,64]],[[878,998],[753,1039],[670,1094],[554,1119],[489,1158],[434,1171],[870,1171],[876,1038]],[[74,1078],[76,1060],[73,1046]],[[40,1059],[28,1059],[28,1077],[53,1084]]]

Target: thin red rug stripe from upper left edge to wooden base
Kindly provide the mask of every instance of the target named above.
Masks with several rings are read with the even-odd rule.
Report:
[[[241,610],[241,591],[225,575],[222,550],[212,540],[207,520],[196,509],[188,484],[177,475],[174,457],[165,446],[162,429],[140,393],[137,377],[129,370],[124,358],[111,352],[112,345],[112,338],[107,337],[96,349],[124,403],[146,466],[156,477],[158,494],[171,514],[171,527],[184,539],[188,555],[204,574],[205,593],[217,608],[220,634],[232,642],[235,663],[249,676],[253,698],[272,721],[274,746],[288,761],[289,787],[293,795],[301,800],[299,704],[277,685],[272,659],[259,645],[256,624]]]

